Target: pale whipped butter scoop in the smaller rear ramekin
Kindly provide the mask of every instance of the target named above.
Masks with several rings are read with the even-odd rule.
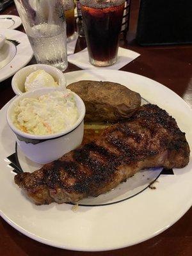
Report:
[[[58,83],[45,70],[38,69],[29,74],[24,84],[26,92],[36,90],[42,87],[56,87]]]

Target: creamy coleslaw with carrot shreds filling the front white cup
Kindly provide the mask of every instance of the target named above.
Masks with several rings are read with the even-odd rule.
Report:
[[[76,99],[70,90],[51,92],[36,99],[19,101],[13,123],[23,132],[35,135],[54,134],[70,129],[79,118]]]

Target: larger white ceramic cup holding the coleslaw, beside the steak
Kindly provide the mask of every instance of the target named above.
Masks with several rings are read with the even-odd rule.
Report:
[[[26,157],[39,164],[54,161],[67,152],[78,147],[83,140],[85,106],[83,100],[76,94],[76,104],[79,111],[77,122],[68,130],[49,135],[34,135],[22,132],[13,124],[12,116],[15,106],[24,98],[37,98],[49,92],[56,91],[55,88],[42,88],[33,92],[26,92],[15,98],[8,107],[6,120],[9,127],[16,135],[16,141]]]

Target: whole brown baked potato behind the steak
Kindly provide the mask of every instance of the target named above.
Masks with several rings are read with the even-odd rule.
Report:
[[[85,121],[118,122],[129,118],[141,105],[139,93],[122,84],[83,80],[69,84],[68,89],[83,99]]]

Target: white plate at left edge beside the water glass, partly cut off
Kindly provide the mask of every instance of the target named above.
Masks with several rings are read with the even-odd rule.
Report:
[[[0,28],[0,34],[6,36],[6,41],[0,49],[1,82],[24,67],[33,57],[33,50],[25,33]]]

